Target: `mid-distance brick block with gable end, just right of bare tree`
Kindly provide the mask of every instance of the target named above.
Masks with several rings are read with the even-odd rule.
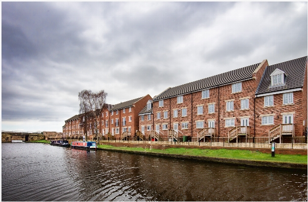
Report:
[[[138,113],[144,108],[145,104],[152,100],[150,95],[128,100],[115,104],[109,113],[110,134],[116,139],[126,139],[135,136],[139,131],[139,115]]]

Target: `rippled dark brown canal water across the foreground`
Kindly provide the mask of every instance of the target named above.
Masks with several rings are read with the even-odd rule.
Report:
[[[2,201],[307,201],[307,172],[2,143]]]

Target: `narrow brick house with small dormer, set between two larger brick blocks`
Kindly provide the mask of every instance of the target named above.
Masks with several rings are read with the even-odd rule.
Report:
[[[155,130],[153,123],[153,101],[148,100],[146,106],[139,112],[139,129],[145,139],[148,139],[151,136],[151,131]]]

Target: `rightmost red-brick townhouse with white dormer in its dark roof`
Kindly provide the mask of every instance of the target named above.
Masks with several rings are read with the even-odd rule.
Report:
[[[256,90],[258,136],[283,142],[307,127],[307,56],[267,66]]]

